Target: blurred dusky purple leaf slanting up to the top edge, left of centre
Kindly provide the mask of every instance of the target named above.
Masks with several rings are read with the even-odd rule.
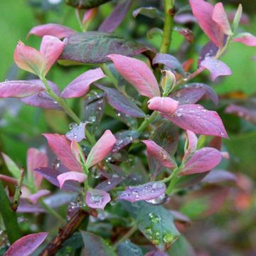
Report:
[[[102,22],[98,31],[112,33],[122,23],[131,5],[131,0],[124,0],[117,4],[110,16]]]

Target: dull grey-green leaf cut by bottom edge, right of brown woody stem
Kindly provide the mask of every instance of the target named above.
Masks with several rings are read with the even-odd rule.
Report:
[[[82,240],[85,244],[85,255],[87,256],[115,256],[115,252],[107,245],[107,242],[99,236],[81,231]]]

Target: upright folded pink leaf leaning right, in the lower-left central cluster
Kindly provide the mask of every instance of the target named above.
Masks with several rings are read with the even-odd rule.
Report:
[[[110,130],[106,130],[100,137],[96,144],[92,147],[89,155],[87,156],[86,164],[88,168],[99,163],[110,153],[117,139],[114,137]]]

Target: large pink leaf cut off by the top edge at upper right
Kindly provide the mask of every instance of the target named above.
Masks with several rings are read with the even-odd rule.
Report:
[[[213,5],[204,0],[189,0],[193,15],[196,17],[203,32],[219,48],[223,47],[224,33],[218,23],[213,21]]]

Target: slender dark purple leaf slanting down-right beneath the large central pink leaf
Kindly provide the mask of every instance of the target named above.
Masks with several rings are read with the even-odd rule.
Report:
[[[137,105],[125,97],[121,92],[110,88],[97,85],[101,90],[104,90],[107,94],[107,102],[119,112],[129,114],[132,117],[145,117],[146,115],[140,110]]]

